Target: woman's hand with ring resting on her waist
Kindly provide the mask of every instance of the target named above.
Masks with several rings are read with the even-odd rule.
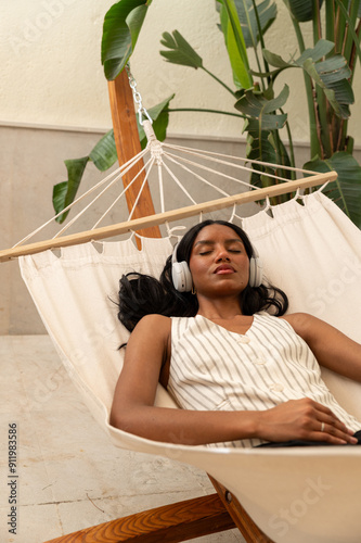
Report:
[[[257,438],[267,441],[326,441],[340,445],[357,443],[353,431],[346,428],[328,407],[305,397],[291,400],[259,412]]]

